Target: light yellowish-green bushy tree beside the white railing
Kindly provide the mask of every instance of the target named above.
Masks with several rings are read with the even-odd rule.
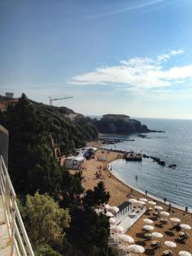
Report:
[[[68,210],[62,209],[49,195],[26,196],[23,207],[26,230],[34,247],[49,245],[59,248],[65,236],[64,230],[69,227]]]

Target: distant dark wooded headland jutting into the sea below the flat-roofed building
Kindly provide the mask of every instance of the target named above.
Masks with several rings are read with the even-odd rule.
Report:
[[[150,130],[146,125],[141,122],[131,119],[130,122],[115,119],[93,119],[94,125],[100,133],[121,133],[130,134],[134,132],[142,133],[149,132]]]

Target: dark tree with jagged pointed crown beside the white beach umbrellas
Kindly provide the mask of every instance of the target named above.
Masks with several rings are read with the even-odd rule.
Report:
[[[67,240],[72,244],[72,251],[67,255],[110,255],[108,254],[108,217],[95,212],[95,207],[108,200],[109,193],[105,191],[104,184],[100,182],[94,190],[89,189],[85,192],[79,207],[71,208],[72,220],[70,229],[67,230]]]

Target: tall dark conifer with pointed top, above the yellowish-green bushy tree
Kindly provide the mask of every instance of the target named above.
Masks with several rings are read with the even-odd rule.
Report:
[[[3,114],[2,121],[9,130],[9,174],[16,192],[33,195],[39,189],[53,195],[59,191],[61,169],[49,148],[44,117],[22,94],[19,102]]]

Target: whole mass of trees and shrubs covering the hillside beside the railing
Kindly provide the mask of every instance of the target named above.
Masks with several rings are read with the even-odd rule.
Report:
[[[90,119],[67,108],[29,101],[22,95],[0,113],[9,130],[9,174],[37,256],[112,256],[108,218],[95,212],[109,200],[103,183],[84,191],[79,173],[61,169],[53,140],[69,154],[97,137]],[[67,114],[67,116],[66,116]]]

